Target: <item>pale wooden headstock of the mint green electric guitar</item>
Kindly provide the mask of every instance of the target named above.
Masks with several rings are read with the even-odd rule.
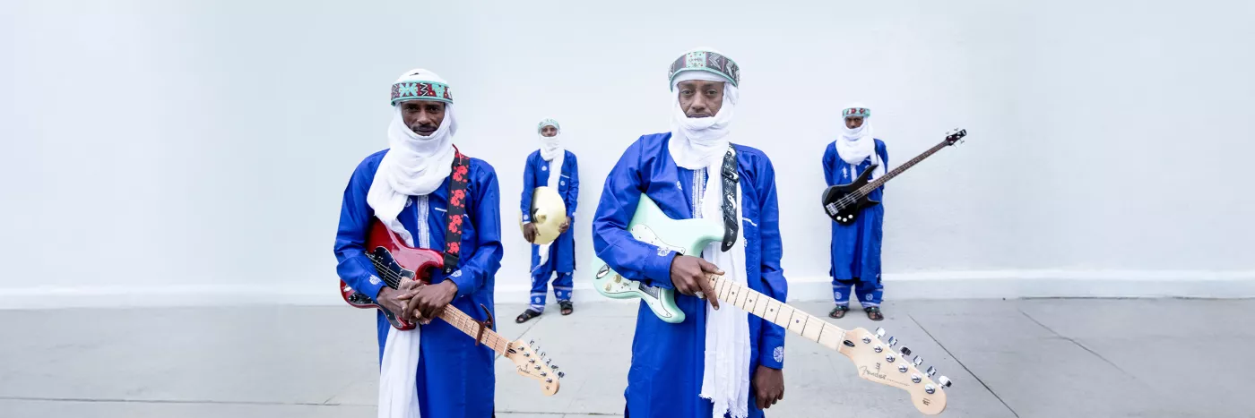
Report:
[[[852,329],[846,332],[846,340],[837,350],[855,362],[858,377],[910,393],[911,403],[921,413],[935,415],[945,410],[943,389],[950,387],[950,379],[943,375],[932,382],[936,368],[929,367],[920,372],[916,367],[924,359],[911,357],[912,352],[906,345],[899,348],[897,338],[890,337],[885,343],[882,337],[884,328],[877,328],[876,333],[863,328]]]

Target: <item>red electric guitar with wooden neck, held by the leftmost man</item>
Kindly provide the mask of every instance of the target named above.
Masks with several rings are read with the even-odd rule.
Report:
[[[371,222],[370,232],[366,234],[366,258],[374,264],[379,278],[393,289],[400,287],[404,280],[422,280],[429,284],[432,272],[438,272],[444,265],[443,253],[407,247],[395,233],[378,219]],[[344,280],[340,280],[340,295],[354,308],[379,309],[393,328],[407,330],[415,327],[380,307],[374,298],[358,293]],[[546,395],[557,393],[558,380],[565,373],[558,370],[557,365],[551,365],[543,352],[537,354],[532,342],[525,343],[521,339],[511,342],[492,330],[492,313],[484,305],[479,305],[479,308],[488,314],[488,320],[474,320],[452,304],[441,310],[439,318],[474,338],[477,345],[482,343],[508,358],[515,363],[518,374],[538,380]]]

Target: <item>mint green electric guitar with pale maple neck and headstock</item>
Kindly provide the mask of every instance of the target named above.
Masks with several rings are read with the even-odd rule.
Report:
[[[671,219],[646,195],[640,196],[628,230],[638,240],[658,247],[659,252],[674,250],[693,257],[700,257],[707,244],[723,239],[723,224],[719,222]],[[842,329],[744,284],[724,280],[719,275],[710,275],[709,279],[720,303],[732,304],[846,355],[855,363],[858,377],[909,392],[911,403],[925,414],[932,415],[945,409],[943,388],[950,385],[950,379],[943,375],[932,382],[936,369],[916,369],[924,360],[919,355],[910,358],[911,349],[905,345],[896,348],[899,342],[894,337],[889,338],[887,344],[882,343],[884,329],[876,329],[875,333],[863,328]],[[684,312],[675,305],[675,293],[671,289],[625,279],[605,263],[601,263],[592,283],[597,292],[610,298],[640,298],[661,320],[673,324],[684,322]],[[783,355],[783,352],[777,348],[774,354]]]

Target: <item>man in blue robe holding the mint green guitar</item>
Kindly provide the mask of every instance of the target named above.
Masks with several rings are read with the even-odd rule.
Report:
[[[776,171],[763,151],[729,143],[740,78],[734,61],[698,49],[675,60],[669,75],[671,131],[628,146],[606,178],[592,220],[597,258],[628,279],[678,290],[675,303],[686,315],[670,324],[640,304],[626,414],[762,417],[784,394],[784,329],[732,304],[720,307],[705,274],[724,274],[784,300]],[[735,160],[724,170],[729,149]],[[729,184],[739,204],[723,204],[722,196],[732,198],[725,191],[733,191],[723,190],[724,178],[735,179]],[[723,252],[723,243],[712,243],[693,257],[634,239],[628,224],[643,195],[674,219],[727,219],[734,244],[729,240]],[[720,218],[725,210],[735,215]]]

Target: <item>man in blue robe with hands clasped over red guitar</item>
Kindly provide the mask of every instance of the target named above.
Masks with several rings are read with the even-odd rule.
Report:
[[[430,285],[424,287],[393,289],[383,284],[365,255],[371,223],[388,225],[417,248],[443,252],[447,240],[456,238],[444,233],[457,151],[452,91],[438,75],[410,70],[393,85],[392,104],[389,149],[366,156],[353,171],[335,237],[340,279],[398,317],[424,323],[413,330],[397,330],[383,313],[376,315],[379,417],[491,417],[494,353],[477,347],[474,338],[443,319],[432,318],[448,304],[477,320],[488,318],[484,309],[493,309],[493,277],[502,255],[497,174],[488,163],[469,159],[456,270],[447,275],[432,272]],[[407,357],[415,352],[418,355]]]

